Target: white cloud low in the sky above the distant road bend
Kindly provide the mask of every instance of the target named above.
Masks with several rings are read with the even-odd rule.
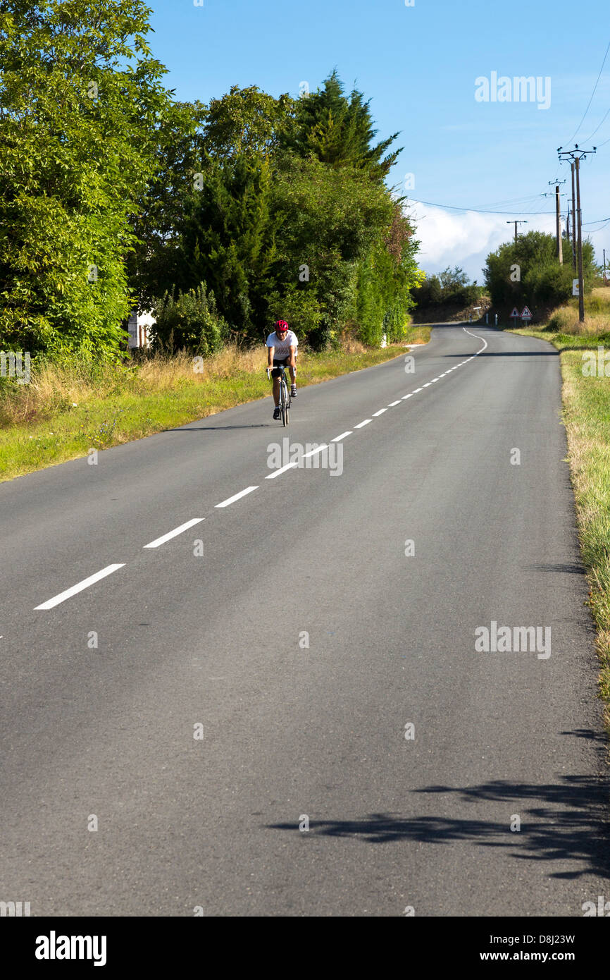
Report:
[[[417,204],[408,212],[416,225],[420,251],[417,261],[428,275],[447,266],[460,266],[471,279],[483,283],[482,269],[490,252],[514,236],[515,226],[503,215],[481,215],[474,211],[453,214],[443,208]],[[517,216],[515,216],[517,217]],[[521,233],[537,230],[555,233],[553,215],[530,216],[520,224]]]

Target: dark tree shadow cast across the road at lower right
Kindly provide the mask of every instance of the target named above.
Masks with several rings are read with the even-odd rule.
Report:
[[[607,810],[608,790],[601,779],[564,776],[558,783],[541,785],[494,780],[462,788],[427,786],[413,792],[458,795],[463,802],[505,803],[506,819],[497,822],[371,813],[356,820],[310,820],[309,832],[324,837],[359,838],[368,844],[416,841],[443,845],[466,841],[477,847],[502,849],[513,858],[556,862],[556,869],[548,871],[552,878],[579,878],[590,873],[610,878],[610,827],[602,816]],[[521,829],[512,832],[510,820],[516,813]],[[300,833],[295,822],[270,827]],[[567,868],[568,861],[581,866]]]

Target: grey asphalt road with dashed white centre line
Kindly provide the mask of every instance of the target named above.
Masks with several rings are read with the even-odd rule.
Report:
[[[0,485],[0,900],[580,916],[608,892],[557,354],[447,325],[405,367],[302,389],[288,429],[266,399]],[[285,437],[333,448],[272,476]],[[492,623],[540,645],[482,652]]]

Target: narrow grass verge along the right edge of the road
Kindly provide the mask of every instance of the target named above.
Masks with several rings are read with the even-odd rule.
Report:
[[[606,377],[605,371],[601,376],[584,371],[590,369],[593,360],[587,351],[595,353],[596,365],[603,335],[573,335],[548,328],[511,332],[548,340],[560,352],[568,459],[587,568],[589,606],[597,627],[599,694],[610,735],[610,376]],[[606,369],[610,374],[610,357]]]

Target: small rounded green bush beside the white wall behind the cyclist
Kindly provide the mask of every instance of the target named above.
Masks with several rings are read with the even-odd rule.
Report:
[[[207,357],[221,347],[227,326],[218,316],[214,295],[202,282],[188,292],[165,293],[155,310],[153,350],[189,350]]]

